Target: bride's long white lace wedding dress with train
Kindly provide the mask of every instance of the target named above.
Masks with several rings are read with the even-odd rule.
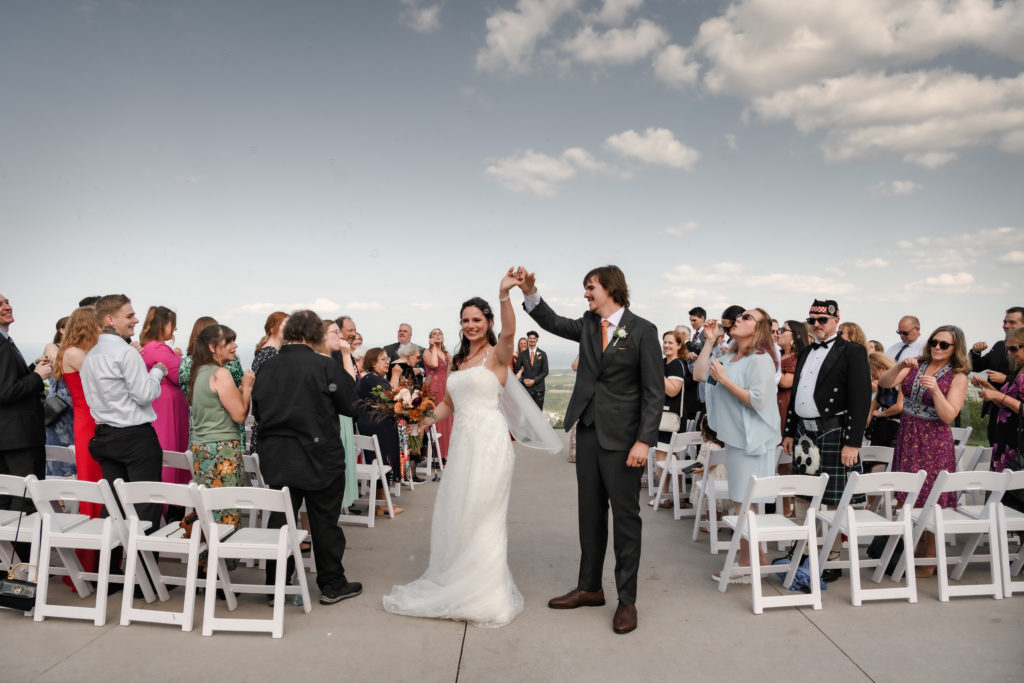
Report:
[[[449,377],[455,422],[434,503],[430,563],[422,577],[384,596],[389,612],[497,628],[522,611],[508,566],[506,515],[515,456],[502,391],[482,366]]]

